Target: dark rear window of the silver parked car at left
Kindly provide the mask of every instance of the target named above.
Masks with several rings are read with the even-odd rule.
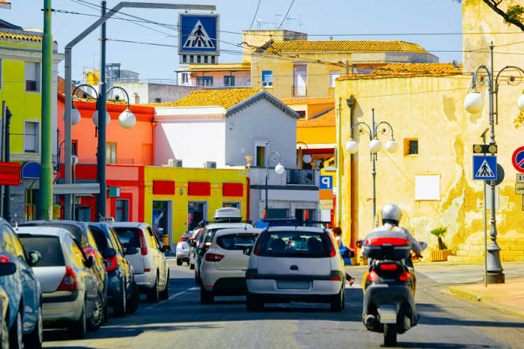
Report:
[[[66,265],[58,237],[21,236],[20,242],[22,242],[26,251],[40,252],[42,259],[36,265],[37,267],[60,267]]]

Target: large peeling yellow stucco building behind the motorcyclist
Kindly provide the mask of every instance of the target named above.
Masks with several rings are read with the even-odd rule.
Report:
[[[481,0],[463,3],[463,31],[463,68],[453,64],[391,64],[368,75],[338,79],[336,101],[341,113],[337,125],[342,131],[339,147],[344,149],[350,138],[346,100],[351,95],[356,98],[354,122],[371,124],[372,108],[377,121],[388,121],[400,149],[394,154],[378,154],[377,209],[389,202],[400,205],[416,238],[428,242],[430,249],[437,248],[437,239],[430,230],[446,226],[444,242],[455,254],[450,259],[481,261],[483,185],[472,179],[472,145],[481,143],[480,135],[489,126],[486,85],[479,88],[485,94],[482,112],[469,114],[463,103],[470,91],[474,68],[479,64],[489,66],[487,46],[491,41],[495,45],[495,71],[506,65],[522,66],[520,56],[503,53],[521,52],[524,44],[516,43],[518,37],[514,34],[493,34],[514,33],[518,29],[504,24],[502,17]],[[511,74],[504,75],[509,79]],[[517,82],[522,81],[513,84]],[[522,85],[501,82],[498,98],[497,162],[504,168],[505,177],[495,192],[495,209],[503,262],[524,260],[523,198],[515,193],[516,170],[511,163],[513,151],[524,145],[524,128],[516,128],[515,122],[521,116],[516,101],[522,89]],[[367,137],[358,136],[358,153],[353,162],[347,151],[340,152],[342,210],[337,220],[344,231],[351,231],[352,241],[365,237],[372,228]],[[388,140],[386,136],[381,139]]]

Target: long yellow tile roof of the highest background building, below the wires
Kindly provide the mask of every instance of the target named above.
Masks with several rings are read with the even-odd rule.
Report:
[[[323,52],[414,52],[428,53],[420,45],[405,41],[375,40],[285,40],[272,43],[268,52],[323,53]]]

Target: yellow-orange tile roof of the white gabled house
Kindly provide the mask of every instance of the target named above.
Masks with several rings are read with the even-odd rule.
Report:
[[[192,91],[186,96],[172,103],[151,103],[154,107],[205,107],[219,105],[229,109],[233,105],[258,94],[261,89],[208,89]]]

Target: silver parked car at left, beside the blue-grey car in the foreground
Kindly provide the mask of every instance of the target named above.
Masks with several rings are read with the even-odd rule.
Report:
[[[43,290],[43,323],[67,327],[73,337],[85,337],[89,322],[99,318],[99,281],[94,256],[87,257],[71,232],[57,227],[18,227],[25,248],[39,251],[33,269]]]

